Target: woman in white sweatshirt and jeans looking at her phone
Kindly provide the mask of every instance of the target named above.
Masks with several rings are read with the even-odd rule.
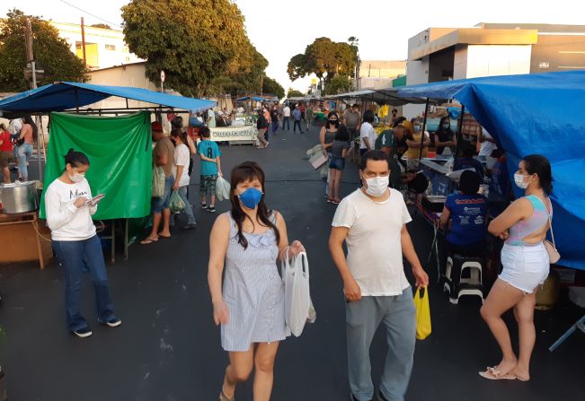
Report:
[[[92,190],[85,179],[89,160],[84,153],[69,149],[65,165],[63,173],[47,188],[45,212],[53,248],[65,273],[67,328],[83,338],[92,336],[92,329],[79,310],[84,267],[92,275],[98,322],[108,327],[120,326],[122,322],[113,312],[102,243],[92,220],[103,196],[92,198]]]

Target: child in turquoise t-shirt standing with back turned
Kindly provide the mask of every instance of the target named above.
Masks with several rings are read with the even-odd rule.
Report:
[[[221,162],[219,146],[209,139],[211,131],[207,126],[199,129],[201,142],[197,145],[197,153],[201,158],[201,179],[199,194],[201,195],[201,207],[210,213],[216,212],[216,181],[217,174],[221,175]],[[211,194],[209,205],[207,205],[207,194]]]

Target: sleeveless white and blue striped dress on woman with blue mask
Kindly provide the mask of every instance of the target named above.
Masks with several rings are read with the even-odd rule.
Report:
[[[231,214],[226,252],[224,301],[229,323],[221,325],[221,346],[228,352],[244,352],[254,343],[284,340],[284,284],[277,266],[279,247],[273,230],[261,234],[243,231],[244,249],[237,241],[237,225]],[[270,221],[275,222],[272,213]]]

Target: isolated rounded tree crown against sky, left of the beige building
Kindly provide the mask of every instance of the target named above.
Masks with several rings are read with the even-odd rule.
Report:
[[[288,62],[288,76],[297,78],[315,74],[324,81],[325,87],[336,75],[353,74],[357,60],[357,42],[333,42],[329,38],[317,38],[308,45],[305,53],[297,54]]]

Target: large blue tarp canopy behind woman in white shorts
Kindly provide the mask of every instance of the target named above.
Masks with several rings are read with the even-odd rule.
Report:
[[[523,156],[547,157],[559,265],[585,270],[585,71],[472,78],[398,92],[459,100],[506,151],[510,173]]]

